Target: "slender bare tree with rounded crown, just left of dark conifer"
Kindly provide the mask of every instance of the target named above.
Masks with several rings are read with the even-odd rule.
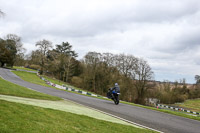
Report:
[[[45,40],[45,39],[36,42],[35,46],[38,46],[39,47],[39,51],[41,52],[41,63],[40,63],[41,71],[40,71],[40,73],[42,74],[43,71],[44,71],[44,67],[45,67],[45,61],[46,61],[47,52],[53,46],[52,46],[52,43],[50,41]]]

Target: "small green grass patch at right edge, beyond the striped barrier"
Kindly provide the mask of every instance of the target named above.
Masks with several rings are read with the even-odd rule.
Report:
[[[191,111],[200,112],[200,99],[190,99],[186,100],[184,103],[175,105]]]

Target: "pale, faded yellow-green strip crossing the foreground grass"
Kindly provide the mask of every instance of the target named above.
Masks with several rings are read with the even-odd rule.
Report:
[[[50,101],[50,100],[39,100],[39,99],[32,99],[32,98],[24,98],[24,97],[16,97],[16,96],[7,96],[7,95],[0,95],[0,100],[6,100],[9,102],[21,103],[26,105],[32,105],[42,108],[60,110],[65,112],[70,112],[73,114],[78,115],[85,115],[99,120],[105,120],[108,122],[123,124],[123,125],[131,125],[137,127],[135,125],[129,124],[125,121],[120,119],[114,118],[112,116],[103,114],[96,110],[87,108],[80,104],[73,103],[68,100],[60,100],[60,101]]]

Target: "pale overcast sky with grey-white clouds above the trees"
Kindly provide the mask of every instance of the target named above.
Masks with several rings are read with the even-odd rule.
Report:
[[[200,0],[0,0],[0,37],[68,41],[79,54],[132,54],[147,60],[155,80],[200,75]]]

